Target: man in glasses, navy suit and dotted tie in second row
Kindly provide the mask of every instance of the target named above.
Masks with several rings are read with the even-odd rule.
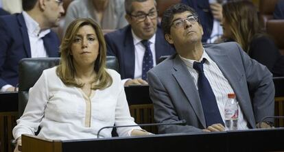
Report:
[[[125,6],[130,25],[106,34],[108,55],[119,60],[119,73],[125,86],[147,84],[147,71],[162,55],[175,51],[157,26],[156,1],[126,0]]]

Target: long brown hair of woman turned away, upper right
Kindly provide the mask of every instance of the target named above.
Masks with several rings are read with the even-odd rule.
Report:
[[[223,18],[230,27],[233,40],[248,53],[250,42],[261,36],[257,8],[250,1],[232,1],[223,5]]]

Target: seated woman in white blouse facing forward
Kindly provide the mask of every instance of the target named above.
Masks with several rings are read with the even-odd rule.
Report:
[[[97,138],[102,127],[137,125],[130,116],[120,75],[106,68],[102,29],[91,19],[76,19],[67,28],[60,46],[60,65],[43,71],[29,90],[23,116],[13,136],[38,131],[51,140]],[[112,129],[99,137],[110,138]],[[117,128],[119,136],[149,135],[141,127]]]

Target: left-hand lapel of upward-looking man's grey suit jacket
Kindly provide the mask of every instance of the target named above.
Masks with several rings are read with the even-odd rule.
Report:
[[[178,55],[176,55],[176,58],[174,58],[173,68],[173,75],[176,78],[176,81],[178,81],[180,88],[182,88],[182,91],[185,93],[185,96],[189,100],[189,103],[193,107],[193,110],[196,112],[196,116],[198,116],[200,123],[204,128],[206,128],[206,122],[200,97],[198,91],[196,90],[193,77],[191,77],[191,74],[189,73],[187,67],[182,62],[182,60],[180,60]]]

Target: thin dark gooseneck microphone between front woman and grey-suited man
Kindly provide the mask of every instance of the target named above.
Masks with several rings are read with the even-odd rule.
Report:
[[[106,128],[121,128],[121,127],[145,127],[145,126],[158,126],[158,125],[185,125],[187,121],[181,120],[181,121],[175,121],[173,123],[145,123],[145,124],[140,124],[140,125],[119,125],[119,126],[106,126],[102,127],[97,131],[97,138],[99,138],[99,133],[102,131],[102,129]]]

